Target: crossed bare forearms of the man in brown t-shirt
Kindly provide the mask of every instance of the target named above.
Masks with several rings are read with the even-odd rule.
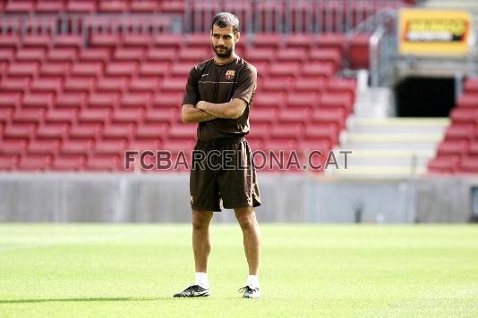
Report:
[[[200,101],[195,106],[184,104],[181,115],[184,122],[212,121],[216,118],[237,119],[244,113],[246,106],[245,101],[240,98],[222,104]]]

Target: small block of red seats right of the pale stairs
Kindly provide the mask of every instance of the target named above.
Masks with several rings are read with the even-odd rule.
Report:
[[[431,173],[478,173],[478,79],[466,79],[451,124],[428,164]]]

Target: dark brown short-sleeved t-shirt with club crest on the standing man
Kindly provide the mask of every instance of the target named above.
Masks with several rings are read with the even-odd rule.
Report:
[[[241,138],[249,132],[249,112],[256,90],[256,80],[256,68],[238,56],[226,64],[217,64],[214,58],[211,58],[192,68],[183,105],[196,105],[201,100],[221,104],[233,98],[241,98],[247,103],[244,113],[238,119],[217,118],[200,122],[198,140]]]

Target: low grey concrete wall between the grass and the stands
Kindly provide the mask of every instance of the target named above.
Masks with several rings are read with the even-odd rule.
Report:
[[[478,180],[260,175],[260,222],[468,222]],[[0,174],[0,222],[190,222],[189,175]],[[234,222],[234,213],[215,213]]]

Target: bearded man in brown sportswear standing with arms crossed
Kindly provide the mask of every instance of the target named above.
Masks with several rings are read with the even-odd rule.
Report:
[[[257,71],[235,54],[240,33],[234,14],[218,13],[211,23],[210,37],[216,56],[192,68],[183,100],[183,121],[199,122],[190,177],[196,278],[192,286],[175,297],[210,295],[209,225],[213,212],[221,211],[222,199],[225,208],[234,209],[243,230],[249,265],[243,297],[257,298],[260,297],[260,230],[254,207],[260,205],[260,194],[252,151],[244,138],[249,132]]]

